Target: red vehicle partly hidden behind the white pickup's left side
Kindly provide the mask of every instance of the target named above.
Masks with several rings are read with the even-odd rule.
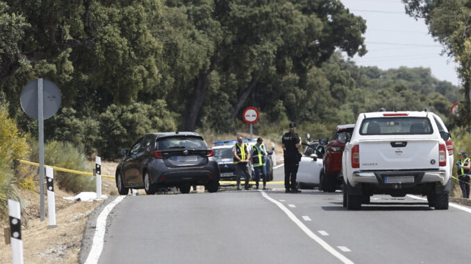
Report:
[[[338,125],[332,141],[324,154],[324,172],[320,175],[320,186],[324,192],[335,192],[342,185],[342,152],[347,137],[352,137],[355,124]]]

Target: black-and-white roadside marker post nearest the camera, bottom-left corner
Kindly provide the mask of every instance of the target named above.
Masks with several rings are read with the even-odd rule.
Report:
[[[8,199],[12,264],[23,264],[22,213],[19,202]]]

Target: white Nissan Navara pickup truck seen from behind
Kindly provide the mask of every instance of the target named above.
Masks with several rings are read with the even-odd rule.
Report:
[[[342,153],[343,206],[361,209],[374,194],[427,195],[429,206],[448,209],[453,146],[432,112],[358,115]]]

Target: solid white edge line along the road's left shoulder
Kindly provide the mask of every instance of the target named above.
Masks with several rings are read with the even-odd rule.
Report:
[[[98,216],[97,227],[95,228],[95,234],[93,236],[92,248],[90,249],[90,253],[88,253],[88,257],[85,261],[85,264],[98,263],[98,260],[101,255],[101,250],[103,250],[103,244],[105,239],[106,218],[108,218],[108,214],[111,210],[113,210],[113,207],[115,207],[118,202],[121,202],[124,197],[126,197],[126,195],[119,195],[115,200],[113,200],[113,202],[110,202]]]

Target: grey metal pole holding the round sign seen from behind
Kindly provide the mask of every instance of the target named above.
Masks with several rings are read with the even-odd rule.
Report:
[[[40,164],[40,218],[44,221],[44,102],[42,78],[38,79],[38,132],[39,132],[39,164]]]

